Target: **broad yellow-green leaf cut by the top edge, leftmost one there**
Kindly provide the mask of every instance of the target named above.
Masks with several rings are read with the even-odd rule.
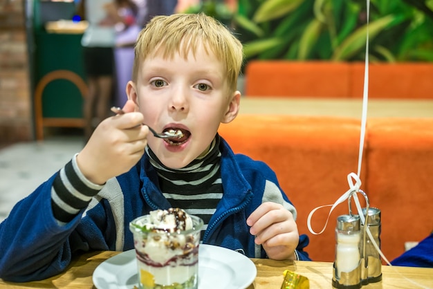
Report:
[[[255,15],[252,17],[252,21],[255,23],[262,23],[282,17],[288,12],[291,12],[300,6],[303,0],[266,0],[264,1]]]

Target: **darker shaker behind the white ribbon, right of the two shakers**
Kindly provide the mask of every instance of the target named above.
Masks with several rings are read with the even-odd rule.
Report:
[[[366,212],[367,208],[362,208],[371,236],[380,248],[380,209],[371,207],[368,214]],[[361,225],[361,234],[367,234],[364,225]],[[368,234],[362,236],[362,239],[365,240],[365,244],[361,246],[361,281],[362,285],[366,285],[382,280],[382,261]]]

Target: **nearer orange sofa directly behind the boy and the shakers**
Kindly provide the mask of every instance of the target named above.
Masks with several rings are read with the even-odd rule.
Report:
[[[405,242],[421,241],[433,230],[433,119],[367,120],[361,189],[382,211],[382,250],[391,261]],[[357,173],[360,120],[291,115],[238,115],[219,133],[235,153],[266,162],[298,211],[300,234],[308,234],[314,261],[333,261],[335,221],[348,213],[347,202],[332,212],[322,234],[308,231],[307,217],[320,205],[333,204],[349,189],[347,175]],[[355,209],[353,207],[353,209]],[[320,232],[329,207],[315,212]]]

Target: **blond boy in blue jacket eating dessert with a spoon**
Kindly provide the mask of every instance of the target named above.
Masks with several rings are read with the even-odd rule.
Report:
[[[239,111],[241,62],[241,43],[212,17],[154,17],[138,37],[126,113],[104,120],[0,225],[0,277],[45,279],[80,250],[132,249],[129,221],[168,207],[203,218],[203,243],[308,260],[273,171],[217,133]],[[142,124],[183,137],[155,138]]]

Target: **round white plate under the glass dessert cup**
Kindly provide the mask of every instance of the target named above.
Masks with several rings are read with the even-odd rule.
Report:
[[[201,244],[199,247],[199,289],[244,289],[257,274],[254,263],[243,254]],[[122,252],[102,262],[93,272],[98,289],[132,289],[138,286],[135,250]]]

